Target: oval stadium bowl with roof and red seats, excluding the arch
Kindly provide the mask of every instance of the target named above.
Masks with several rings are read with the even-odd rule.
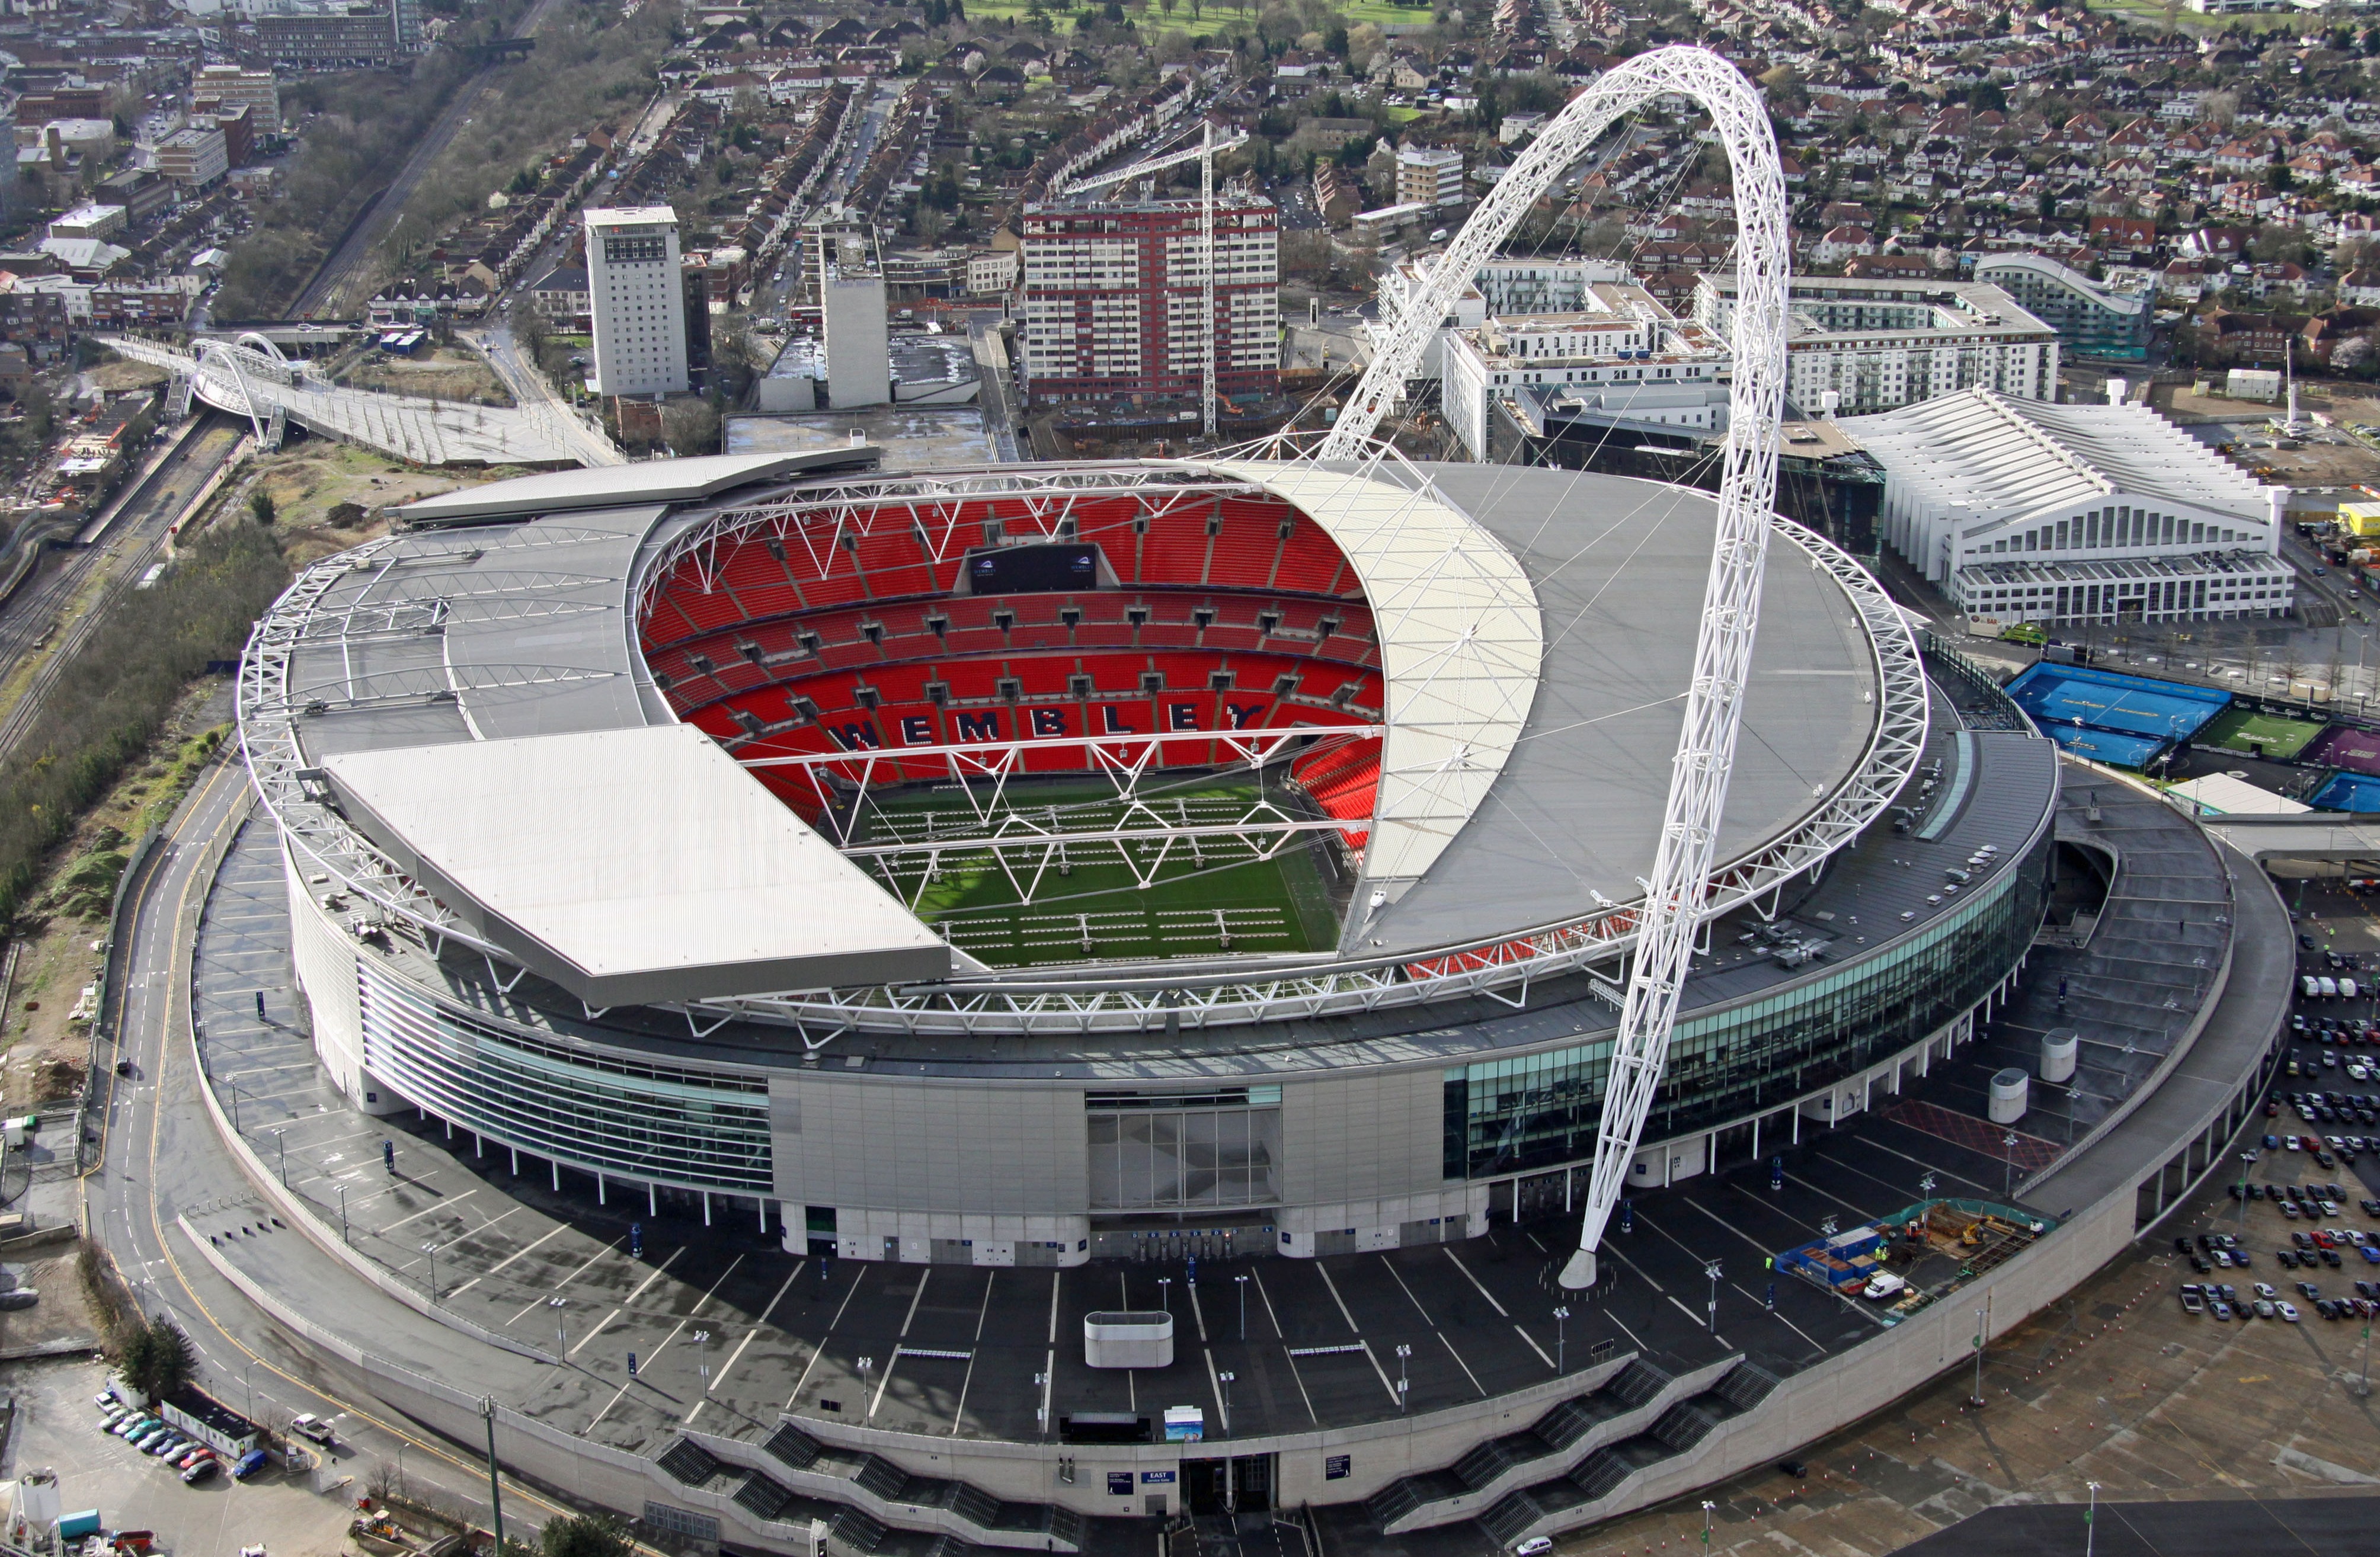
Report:
[[[416,502],[243,667],[321,1059],[857,1259],[1483,1231],[1595,1155],[1714,512],[788,457]],[[1764,955],[1702,959],[1633,1181],[1833,1119],[2016,967],[2049,745],[1935,705],[1866,571],[1778,521],[1709,902]]]

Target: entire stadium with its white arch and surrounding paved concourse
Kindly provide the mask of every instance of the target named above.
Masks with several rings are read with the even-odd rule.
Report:
[[[1376,440],[1468,267],[1671,90],[1745,231],[1721,490]],[[240,659],[193,1031],[309,1045],[393,1188],[412,1131],[512,1198],[450,1290],[433,1245],[369,1276],[564,1383],[350,1364],[690,1550],[897,1557],[1542,1550],[1980,1378],[2254,1128],[2292,926],[1771,512],[1783,233],[1756,93],[1654,50],[1314,448],[540,474],[305,569]],[[343,1188],[245,1164],[359,1262]],[[459,1252],[531,1188],[552,1231]],[[626,1269],[545,1352],[569,1228]],[[750,1321],[743,1405],[707,1350],[693,1407],[631,1397],[697,1312]]]

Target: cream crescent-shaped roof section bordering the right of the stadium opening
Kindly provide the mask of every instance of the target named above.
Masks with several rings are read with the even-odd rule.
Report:
[[[1433,488],[1311,464],[1214,467],[1288,498],[1347,552],[1388,683],[1388,745],[1364,878],[1395,898],[1504,771],[1537,695],[1545,629],[1518,559]]]

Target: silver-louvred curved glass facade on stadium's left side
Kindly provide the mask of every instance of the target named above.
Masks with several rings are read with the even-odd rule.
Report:
[[[597,1174],[766,1195],[769,1081],[564,1048],[359,964],[364,1064],[407,1102]]]

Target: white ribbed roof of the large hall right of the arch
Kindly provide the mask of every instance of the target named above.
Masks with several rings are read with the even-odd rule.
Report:
[[[2033,514],[2111,493],[2268,521],[2266,488],[2144,405],[2047,405],[1966,390],[1842,429],[1885,462],[1906,500],[1975,517]]]

